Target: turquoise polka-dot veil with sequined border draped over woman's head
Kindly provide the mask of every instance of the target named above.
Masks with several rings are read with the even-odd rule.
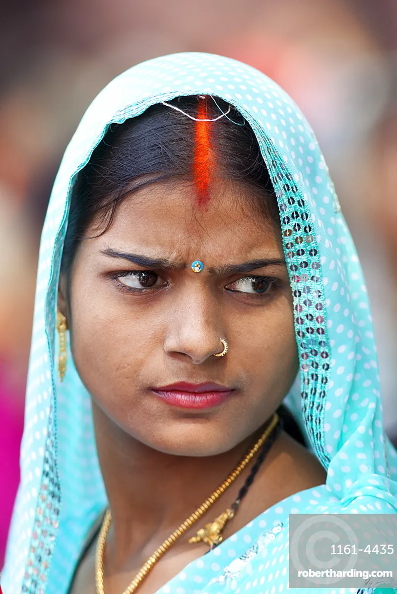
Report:
[[[206,53],[163,56],[129,69],[100,92],[56,176],[40,244],[5,594],[66,593],[87,531],[106,505],[89,394],[70,357],[62,384],[56,373],[56,296],[75,177],[109,124],[193,94],[222,97],[250,123],[278,198],[300,356],[300,375],[286,404],[327,469],[326,485],[314,495],[293,496],[301,501],[295,511],[396,512],[397,457],[383,431],[366,286],[313,131],[291,98],[256,69]],[[289,500],[270,508],[267,517],[275,513],[288,524]],[[252,538],[260,538],[258,530]],[[280,557],[280,569],[288,566],[287,557]],[[227,587],[219,580],[217,589],[203,582],[197,592]]]

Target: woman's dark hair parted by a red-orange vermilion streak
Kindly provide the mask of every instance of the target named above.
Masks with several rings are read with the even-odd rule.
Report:
[[[202,99],[201,99],[202,100]],[[197,115],[197,96],[178,97],[172,103]],[[206,97],[207,117],[216,118],[229,106]],[[62,270],[68,270],[87,226],[99,216],[102,233],[111,225],[116,208],[132,192],[163,180],[193,181],[195,122],[162,104],[136,118],[111,124],[78,174],[71,195]],[[253,207],[279,225],[275,192],[253,129],[231,108],[228,116],[211,124],[211,148],[216,173],[251,190]]]

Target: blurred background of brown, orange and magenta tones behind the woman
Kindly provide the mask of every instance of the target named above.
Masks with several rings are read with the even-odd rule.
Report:
[[[259,68],[313,126],[366,275],[386,430],[397,440],[396,0],[2,0],[0,567],[53,178],[84,110],[111,78],[183,51]]]

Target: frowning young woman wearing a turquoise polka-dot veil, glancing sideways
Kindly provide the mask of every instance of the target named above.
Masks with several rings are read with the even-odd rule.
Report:
[[[289,514],[395,513],[357,255],[260,72],[165,56],[90,106],[43,229],[21,460],[5,594],[282,592]]]

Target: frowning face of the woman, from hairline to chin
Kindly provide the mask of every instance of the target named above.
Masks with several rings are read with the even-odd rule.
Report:
[[[239,184],[219,181],[203,211],[188,184],[148,185],[75,255],[70,302],[61,298],[60,307],[78,374],[113,428],[156,450],[231,449],[272,415],[297,374],[279,230],[250,199]],[[93,221],[86,236],[96,233]],[[163,262],[140,265],[137,255]],[[200,273],[191,269],[195,260],[204,264]],[[226,269],[231,264],[236,270]],[[229,352],[216,357],[221,337]],[[180,382],[230,391],[181,406],[155,390]]]

